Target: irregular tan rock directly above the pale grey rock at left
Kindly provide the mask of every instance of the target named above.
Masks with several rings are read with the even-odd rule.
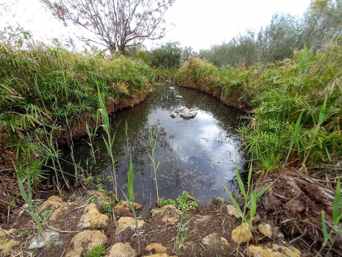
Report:
[[[72,207],[76,206],[75,202],[63,202],[62,199],[58,196],[51,196],[42,205],[39,206],[39,212],[43,212],[45,210],[52,210],[52,214],[49,217],[50,221],[56,221],[59,215]]]

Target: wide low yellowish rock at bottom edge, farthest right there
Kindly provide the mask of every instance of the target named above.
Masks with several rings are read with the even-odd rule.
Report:
[[[293,246],[268,245],[255,246],[250,245],[247,250],[251,257],[300,257],[301,253]]]

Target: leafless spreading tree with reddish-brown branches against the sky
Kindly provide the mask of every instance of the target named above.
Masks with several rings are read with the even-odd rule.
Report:
[[[175,0],[40,0],[65,26],[73,23],[95,34],[80,37],[111,53],[146,39],[165,36],[164,15]]]

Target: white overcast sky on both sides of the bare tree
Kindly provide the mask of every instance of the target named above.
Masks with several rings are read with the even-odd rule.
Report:
[[[198,51],[228,42],[247,29],[259,30],[270,22],[275,12],[301,15],[309,4],[310,0],[176,0],[165,16],[169,29],[167,36],[144,44],[150,48],[170,40],[179,41]],[[35,39],[42,41],[52,38],[63,41],[83,33],[73,26],[63,27],[38,0],[17,0],[11,4],[10,11],[3,12],[0,17],[2,27],[6,23],[20,24],[30,30]],[[77,45],[81,46],[80,43]]]

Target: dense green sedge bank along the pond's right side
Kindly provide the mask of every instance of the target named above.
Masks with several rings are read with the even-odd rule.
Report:
[[[190,58],[178,84],[250,111],[241,128],[244,145],[259,170],[286,165],[306,173],[336,172],[342,156],[342,41],[324,50],[295,52],[292,59],[248,68]]]

